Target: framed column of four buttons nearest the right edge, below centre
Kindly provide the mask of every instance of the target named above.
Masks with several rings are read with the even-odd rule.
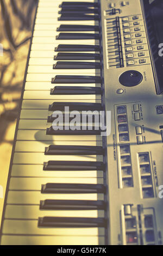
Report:
[[[154,190],[149,153],[139,153],[139,163],[143,198],[153,198]]]

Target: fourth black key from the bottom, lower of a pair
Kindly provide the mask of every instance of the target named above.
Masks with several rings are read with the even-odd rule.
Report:
[[[104,171],[103,162],[48,161],[43,163],[44,171]]]

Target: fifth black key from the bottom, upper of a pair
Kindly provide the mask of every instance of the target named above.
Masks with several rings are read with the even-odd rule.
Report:
[[[50,145],[45,148],[46,155],[67,155],[67,156],[83,156],[83,155],[102,155],[104,154],[103,147],[99,146],[67,146],[67,145]]]

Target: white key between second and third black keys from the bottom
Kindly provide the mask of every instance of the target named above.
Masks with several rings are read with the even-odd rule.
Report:
[[[7,204],[38,204],[40,200],[104,200],[104,194],[42,194],[40,191],[9,190]]]

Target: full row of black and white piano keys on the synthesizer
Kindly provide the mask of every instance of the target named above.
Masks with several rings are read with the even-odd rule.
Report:
[[[63,106],[73,103],[74,109],[76,103],[101,105],[101,91],[97,91],[101,88],[99,21],[75,17],[58,20],[59,16],[64,17],[59,14],[64,10],[60,4],[62,1],[40,0],[37,8],[8,184],[2,245],[105,244],[107,206],[102,136],[91,130],[88,135],[86,131],[81,135],[80,131],[47,134],[47,128],[52,126],[47,118],[53,114],[49,105],[54,102]],[[77,25],[76,31],[72,31]],[[70,46],[73,50],[68,49]],[[67,75],[70,81],[64,77]],[[56,76],[59,83],[52,84]],[[53,151],[45,154],[48,147],[54,147]],[[98,152],[97,147],[100,147]],[[51,184],[53,189],[48,188]]]

